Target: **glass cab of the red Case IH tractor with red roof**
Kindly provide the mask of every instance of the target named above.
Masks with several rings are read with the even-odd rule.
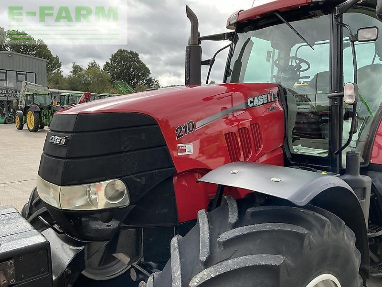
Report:
[[[361,165],[367,165],[371,147],[366,142],[382,103],[382,23],[371,10],[376,1],[265,2],[231,15],[227,28],[235,32],[198,37],[194,44],[191,33],[190,59],[199,59],[192,49],[200,41],[232,40],[223,82],[277,85],[285,101],[285,148],[291,163],[339,172],[346,151],[356,149]],[[200,62],[210,68],[214,63]],[[192,69],[186,63],[186,83],[199,82]],[[359,89],[355,104],[330,96],[346,83]]]

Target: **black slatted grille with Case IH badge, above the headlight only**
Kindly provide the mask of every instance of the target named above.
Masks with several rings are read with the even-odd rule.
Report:
[[[173,168],[156,121],[136,113],[55,115],[39,175],[60,186]],[[71,130],[71,131],[70,131]],[[66,137],[66,146],[50,142]]]

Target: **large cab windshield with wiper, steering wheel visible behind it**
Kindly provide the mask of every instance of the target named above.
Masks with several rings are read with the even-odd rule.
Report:
[[[329,39],[331,15],[251,30],[235,39],[227,82],[277,83],[288,103],[288,140],[292,153],[326,157],[329,150]],[[248,30],[248,31],[246,31]]]

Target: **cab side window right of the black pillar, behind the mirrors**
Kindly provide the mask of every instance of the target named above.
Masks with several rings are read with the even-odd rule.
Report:
[[[375,13],[352,9],[343,16],[343,23],[351,28],[352,34],[356,34],[359,28],[377,26],[379,38],[374,42],[355,42],[357,56],[357,77],[359,88],[359,100],[357,104],[357,131],[352,136],[350,145],[343,151],[343,167],[345,167],[346,151],[351,148],[363,154],[367,141],[371,122],[381,107],[382,103],[382,23]],[[349,33],[343,29],[343,77],[344,83],[354,82],[353,54],[349,42]],[[351,111],[353,107],[344,104],[343,111],[343,135],[345,143],[349,138],[351,126]],[[364,158],[361,159],[361,163]]]

